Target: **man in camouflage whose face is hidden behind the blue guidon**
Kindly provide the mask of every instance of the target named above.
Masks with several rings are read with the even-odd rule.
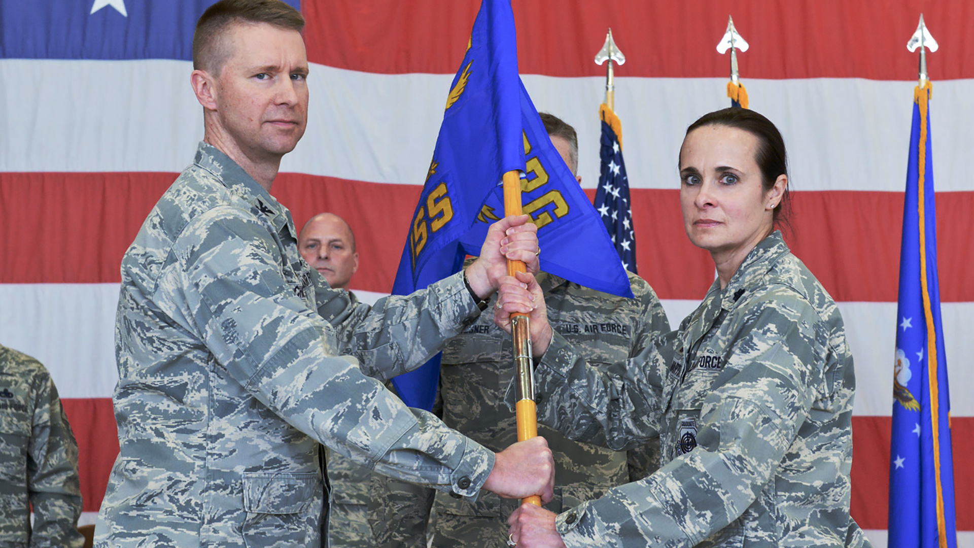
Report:
[[[541,117],[551,143],[581,182],[575,129],[551,114]],[[629,284],[635,298],[596,292],[544,272],[538,275],[538,283],[554,329],[591,364],[614,364],[637,356],[656,337],[670,331],[653,288],[631,272]],[[492,298],[490,304],[495,303]],[[443,350],[438,394],[443,422],[489,449],[517,441],[514,413],[504,405],[504,390],[513,376],[511,356],[510,335],[486,315]],[[659,465],[658,438],[628,451],[615,451],[571,441],[543,425],[539,434],[554,455],[555,498],[545,505],[554,512],[641,480]],[[458,500],[377,475],[372,486],[369,520],[376,542],[385,548],[425,547],[428,533],[437,548],[503,546],[507,516],[518,505],[490,494],[475,502]]]

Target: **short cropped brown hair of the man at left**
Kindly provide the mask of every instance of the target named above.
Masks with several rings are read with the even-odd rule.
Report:
[[[223,37],[236,23],[266,22],[287,29],[304,30],[301,13],[281,0],[220,0],[206,9],[193,33],[193,68],[218,74],[230,56]]]

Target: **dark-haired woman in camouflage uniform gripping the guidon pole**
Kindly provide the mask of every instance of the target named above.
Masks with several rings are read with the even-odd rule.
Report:
[[[540,420],[617,450],[657,433],[662,445],[644,480],[557,515],[522,505],[511,544],[868,546],[849,516],[843,319],[774,229],[789,206],[784,141],[753,110],[719,110],[687,130],[679,165],[687,235],[717,280],[665,345],[590,367],[552,331],[533,276],[502,286],[498,322],[531,314]]]

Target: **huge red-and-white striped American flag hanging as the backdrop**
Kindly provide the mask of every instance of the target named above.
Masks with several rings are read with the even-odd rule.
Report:
[[[0,342],[54,375],[81,446],[86,512],[118,450],[111,395],[119,264],[139,225],[203,135],[189,86],[193,21],[210,1],[0,3]],[[36,6],[35,6],[36,4]],[[296,4],[296,2],[295,2]],[[617,67],[640,274],[676,325],[713,263],[684,234],[677,154],[686,127],[728,104],[715,51],[731,14],[751,107],[791,152],[786,240],[839,301],[855,357],[852,513],[885,541],[897,271],[918,59],[906,42],[923,12],[937,174],[940,284],[954,387],[957,526],[974,544],[974,7],[962,0],[589,2],[515,0],[520,70],[539,110],[579,130],[580,175],[599,178],[606,29]],[[308,132],[274,193],[300,226],[349,220],[354,289],[393,285],[475,0],[309,0]],[[18,20],[17,18],[20,18]],[[584,253],[584,250],[579,250]],[[93,514],[86,514],[91,521]]]

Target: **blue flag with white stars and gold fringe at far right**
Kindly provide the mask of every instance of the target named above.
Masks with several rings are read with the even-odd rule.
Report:
[[[889,546],[955,548],[951,402],[937,281],[930,84],[915,94],[896,320]]]

